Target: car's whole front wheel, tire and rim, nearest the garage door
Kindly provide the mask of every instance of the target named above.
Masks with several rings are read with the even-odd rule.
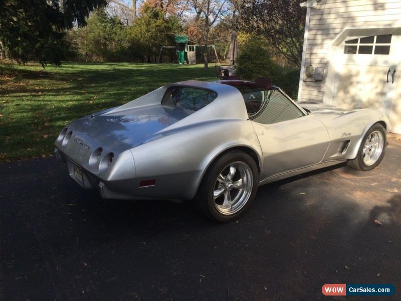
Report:
[[[373,124],[360,143],[358,155],[353,160],[348,160],[347,165],[360,171],[370,171],[378,166],[384,157],[386,143],[385,129],[379,124]]]

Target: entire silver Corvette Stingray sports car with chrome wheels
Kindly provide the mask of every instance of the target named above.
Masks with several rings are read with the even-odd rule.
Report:
[[[389,129],[380,111],[296,103],[268,79],[184,81],[71,122],[55,154],[105,199],[193,200],[231,221],[260,185],[343,162],[373,169]]]

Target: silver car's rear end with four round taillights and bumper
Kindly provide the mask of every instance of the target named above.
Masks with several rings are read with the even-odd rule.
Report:
[[[101,143],[96,136],[65,127],[55,142],[56,159],[67,162],[68,172],[85,189],[99,189],[103,198],[129,199],[124,187],[135,177],[135,164],[129,149]]]

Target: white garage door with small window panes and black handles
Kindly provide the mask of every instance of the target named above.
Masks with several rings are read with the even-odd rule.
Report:
[[[333,103],[380,109],[401,134],[401,36],[348,37],[338,50]]]

